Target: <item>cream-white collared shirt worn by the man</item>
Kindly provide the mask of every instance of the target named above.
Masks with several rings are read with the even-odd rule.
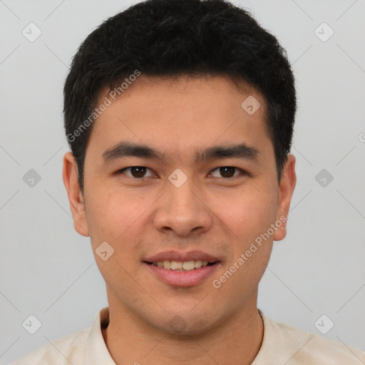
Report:
[[[252,365],[361,365],[365,352],[265,317],[264,338]],[[109,323],[109,308],[101,309],[87,329],[46,344],[11,365],[115,365],[101,327]]]

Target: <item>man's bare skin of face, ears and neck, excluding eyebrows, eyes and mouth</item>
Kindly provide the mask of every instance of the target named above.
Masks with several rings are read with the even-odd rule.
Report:
[[[241,107],[250,95],[261,104],[252,115]],[[120,140],[148,144],[167,160],[127,157],[103,163],[104,151]],[[257,162],[195,163],[195,150],[242,142],[259,150]],[[86,148],[83,194],[71,152],[64,156],[63,181],[74,227],[91,237],[106,281],[110,324],[103,336],[116,364],[251,364],[263,336],[258,284],[273,241],[286,235],[285,223],[220,288],[212,280],[287,217],[294,165],[289,155],[278,184],[262,97],[248,87],[238,91],[222,76],[142,75],[98,117]],[[142,180],[130,170],[113,175],[131,166],[150,170]],[[234,170],[234,177],[225,178],[219,170],[224,166],[247,173]],[[177,168],[187,177],[178,188],[168,180]],[[103,261],[95,250],[105,241],[115,252]],[[201,250],[220,264],[200,284],[173,287],[142,264],[165,250]],[[179,333],[169,325],[176,316],[185,323]]]

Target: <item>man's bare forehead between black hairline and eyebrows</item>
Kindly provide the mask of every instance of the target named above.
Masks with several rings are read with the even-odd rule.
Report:
[[[152,145],[181,157],[190,152],[195,157],[197,148],[215,143],[258,148],[270,142],[262,96],[249,86],[239,90],[222,76],[141,75],[120,96],[103,91],[98,103],[106,99],[110,105],[94,122],[88,143],[99,148],[99,154],[120,140]]]

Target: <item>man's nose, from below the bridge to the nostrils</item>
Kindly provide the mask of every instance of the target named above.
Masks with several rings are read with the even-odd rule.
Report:
[[[180,237],[207,232],[212,227],[212,212],[204,196],[188,179],[183,186],[168,184],[167,191],[158,200],[153,218],[155,229]]]

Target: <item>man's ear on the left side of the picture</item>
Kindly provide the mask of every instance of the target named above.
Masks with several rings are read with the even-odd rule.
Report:
[[[71,152],[63,156],[63,184],[66,187],[68,201],[70,202],[73,217],[73,227],[76,232],[85,237],[89,236],[88,222],[86,220],[85,202],[78,184],[78,168],[76,160]]]

